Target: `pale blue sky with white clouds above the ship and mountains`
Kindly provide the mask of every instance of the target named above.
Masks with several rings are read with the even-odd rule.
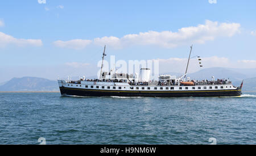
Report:
[[[39,1],[1,2],[0,82],[23,76],[96,75],[104,44],[108,56],[116,59],[167,61],[187,58],[193,44],[194,55],[209,62],[212,57],[222,60],[208,68],[256,67],[254,0]],[[187,29],[179,32],[181,28]],[[127,35],[132,37],[123,37]],[[69,66],[71,62],[81,68]]]

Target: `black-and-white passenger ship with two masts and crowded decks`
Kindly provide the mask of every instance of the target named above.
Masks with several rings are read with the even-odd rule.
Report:
[[[191,47],[192,50],[192,47]],[[191,54],[191,52],[190,52]],[[188,62],[190,59],[190,54]],[[104,60],[102,56],[102,64]],[[188,65],[187,65],[188,66]],[[195,81],[174,75],[159,75],[159,81],[150,80],[150,69],[142,68],[140,75],[115,73],[113,70],[102,72],[99,79],[80,78],[78,81],[58,80],[62,96],[239,96],[242,85],[235,87],[229,79]]]

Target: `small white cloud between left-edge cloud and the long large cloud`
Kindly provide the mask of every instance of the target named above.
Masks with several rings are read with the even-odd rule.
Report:
[[[81,39],[70,40],[70,41],[58,40],[58,41],[53,42],[53,44],[56,47],[71,48],[71,49],[76,49],[76,50],[84,49],[90,43],[92,43],[91,40],[81,40]]]

